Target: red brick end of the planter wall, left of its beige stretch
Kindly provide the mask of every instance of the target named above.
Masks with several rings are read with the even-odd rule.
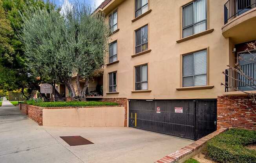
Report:
[[[28,105],[28,117],[33,121],[37,122],[38,125],[43,125],[43,108],[36,107],[33,105]]]

